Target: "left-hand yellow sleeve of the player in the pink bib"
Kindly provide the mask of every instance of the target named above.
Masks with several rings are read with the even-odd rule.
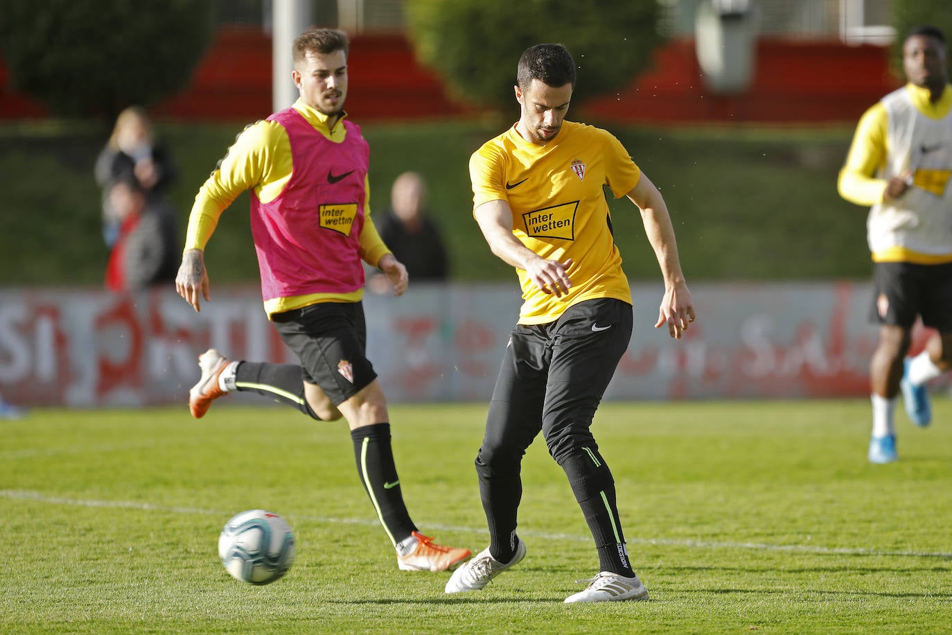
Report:
[[[243,191],[254,189],[267,203],[280,193],[290,173],[290,140],[284,127],[268,121],[248,126],[195,195],[185,248],[204,249],[222,212]]]

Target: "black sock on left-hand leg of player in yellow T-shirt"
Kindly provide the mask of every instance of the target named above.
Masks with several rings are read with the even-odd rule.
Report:
[[[489,527],[489,555],[507,563],[516,554],[516,517],[523,498],[520,466],[488,466],[477,456],[476,474]]]

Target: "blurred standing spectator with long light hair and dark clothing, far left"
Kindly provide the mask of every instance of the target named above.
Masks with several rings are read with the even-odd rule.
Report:
[[[169,154],[156,142],[145,109],[130,106],[119,113],[109,142],[96,159],[95,175],[103,190],[103,238],[111,248],[119,237],[121,223],[109,206],[112,185],[133,181],[149,199],[161,199],[175,178]]]

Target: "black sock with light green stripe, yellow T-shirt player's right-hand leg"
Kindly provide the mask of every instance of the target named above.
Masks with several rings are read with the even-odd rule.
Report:
[[[615,503],[615,479],[598,447],[574,450],[565,458],[562,468],[595,539],[601,570],[633,577],[635,572],[628,561],[625,534]]]

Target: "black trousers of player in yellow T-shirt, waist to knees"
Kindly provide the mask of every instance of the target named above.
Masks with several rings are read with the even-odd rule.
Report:
[[[556,460],[593,444],[588,427],[632,328],[631,305],[605,298],[568,308],[555,322],[517,326],[496,379],[484,448],[519,454],[541,431]]]

